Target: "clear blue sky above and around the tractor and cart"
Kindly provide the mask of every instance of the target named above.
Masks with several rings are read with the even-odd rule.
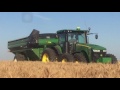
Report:
[[[99,38],[91,35],[89,42],[106,47],[107,53],[120,60],[120,12],[0,12],[0,60],[14,57],[8,52],[8,41],[26,37],[33,29],[54,33],[77,26],[91,27],[91,32],[98,33]]]

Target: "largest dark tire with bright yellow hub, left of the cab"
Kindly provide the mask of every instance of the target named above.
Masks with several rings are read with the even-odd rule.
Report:
[[[57,60],[57,54],[51,48],[46,48],[42,53],[42,62],[53,62]]]

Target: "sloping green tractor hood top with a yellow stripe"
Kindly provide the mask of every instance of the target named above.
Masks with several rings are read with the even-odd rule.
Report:
[[[83,44],[83,43],[80,43],[80,44],[78,44],[78,46],[91,48],[93,50],[106,50],[106,48],[104,48],[102,46],[99,46],[99,45],[95,45],[95,44]]]

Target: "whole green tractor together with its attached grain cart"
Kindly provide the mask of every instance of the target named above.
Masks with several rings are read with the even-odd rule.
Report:
[[[90,34],[94,34],[90,29],[80,28],[43,34],[33,29],[25,38],[8,41],[8,49],[17,61],[117,63],[113,54],[107,54],[106,48],[88,42]]]

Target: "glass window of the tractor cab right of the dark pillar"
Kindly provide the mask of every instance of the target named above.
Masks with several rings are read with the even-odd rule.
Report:
[[[84,32],[72,32],[72,33],[68,33],[68,41],[76,41],[78,43],[86,43],[86,36]]]

